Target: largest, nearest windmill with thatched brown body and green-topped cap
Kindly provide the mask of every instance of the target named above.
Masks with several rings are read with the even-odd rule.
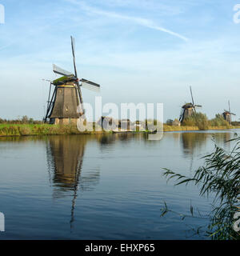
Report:
[[[50,82],[44,121],[46,122],[50,119],[51,124],[77,123],[78,118],[85,118],[81,87],[94,91],[100,90],[100,86],[97,83],[78,78],[75,58],[75,40],[73,37],[71,37],[71,46],[74,60],[74,73],[53,65],[54,73],[60,74],[62,77]]]

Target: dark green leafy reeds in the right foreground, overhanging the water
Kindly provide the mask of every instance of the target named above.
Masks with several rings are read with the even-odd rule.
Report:
[[[234,138],[229,142],[235,142],[233,150],[226,152],[215,145],[214,152],[206,154],[203,158],[205,164],[196,170],[194,177],[186,177],[164,169],[164,176],[168,179],[174,178],[175,185],[193,183],[194,186],[199,187],[200,196],[214,196],[213,208],[209,214],[202,216],[199,211],[190,206],[190,215],[180,215],[182,219],[186,217],[208,219],[209,225],[206,226],[204,233],[216,240],[240,240],[240,233],[233,228],[234,222],[237,221],[234,215],[240,209],[240,138]],[[169,210],[165,203],[162,216],[170,211],[172,210]]]

